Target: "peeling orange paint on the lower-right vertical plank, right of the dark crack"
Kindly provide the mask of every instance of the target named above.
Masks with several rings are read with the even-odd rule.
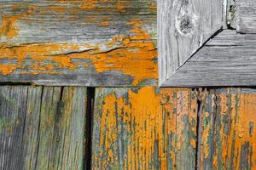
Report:
[[[220,100],[222,105],[220,111],[221,115],[226,116],[226,114],[229,114],[230,117],[230,122],[222,122],[224,127],[220,131],[222,150],[218,151],[221,152],[224,165],[229,165],[230,159],[238,157],[239,159],[234,159],[234,169],[241,169],[241,158],[244,159],[245,162],[251,160],[252,165],[250,167],[252,167],[252,169],[256,168],[256,148],[254,147],[256,145],[256,131],[253,130],[252,134],[250,134],[250,122],[256,125],[256,120],[252,119],[252,117],[255,116],[256,95],[233,94],[229,97],[227,94],[220,94]],[[230,127],[228,133],[226,132],[227,127]],[[252,157],[241,155],[241,152],[244,151],[241,147],[246,143],[252,146]],[[234,152],[234,150],[236,150],[236,152]],[[231,157],[231,152],[234,152],[233,158]],[[218,166],[218,164],[216,166]]]

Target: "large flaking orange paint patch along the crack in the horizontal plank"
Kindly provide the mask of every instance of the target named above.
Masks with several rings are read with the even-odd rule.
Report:
[[[127,25],[131,26],[132,35],[113,37],[104,45],[111,49],[109,51],[102,50],[98,44],[38,43],[15,47],[2,44],[0,59],[14,59],[17,62],[6,68],[2,65],[0,72],[4,76],[17,69],[20,69],[23,74],[44,74],[45,72],[61,74],[60,68],[78,69],[80,63],[73,60],[84,59],[91,60],[98,73],[122,71],[123,74],[134,77],[132,85],[137,85],[144,79],[157,79],[157,64],[154,63],[157,50],[154,42],[147,31],[141,28],[141,20],[130,20]],[[82,49],[90,50],[83,52]],[[32,64],[24,69],[26,59],[32,59]],[[50,67],[44,65],[44,61],[50,61]],[[84,69],[87,67],[88,65],[84,65]]]

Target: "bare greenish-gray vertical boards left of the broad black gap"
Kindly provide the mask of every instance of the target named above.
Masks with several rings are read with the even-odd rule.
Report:
[[[86,88],[0,87],[1,169],[83,169]]]

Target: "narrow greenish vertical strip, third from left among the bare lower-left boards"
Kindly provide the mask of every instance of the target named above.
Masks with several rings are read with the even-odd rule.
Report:
[[[38,141],[35,141],[38,142],[37,169],[49,169],[54,166],[55,116],[60,98],[60,87],[44,88],[40,109]]]

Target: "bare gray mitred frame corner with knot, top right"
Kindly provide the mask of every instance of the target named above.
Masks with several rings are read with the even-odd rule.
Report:
[[[254,0],[159,0],[159,85],[255,85],[255,11]]]

